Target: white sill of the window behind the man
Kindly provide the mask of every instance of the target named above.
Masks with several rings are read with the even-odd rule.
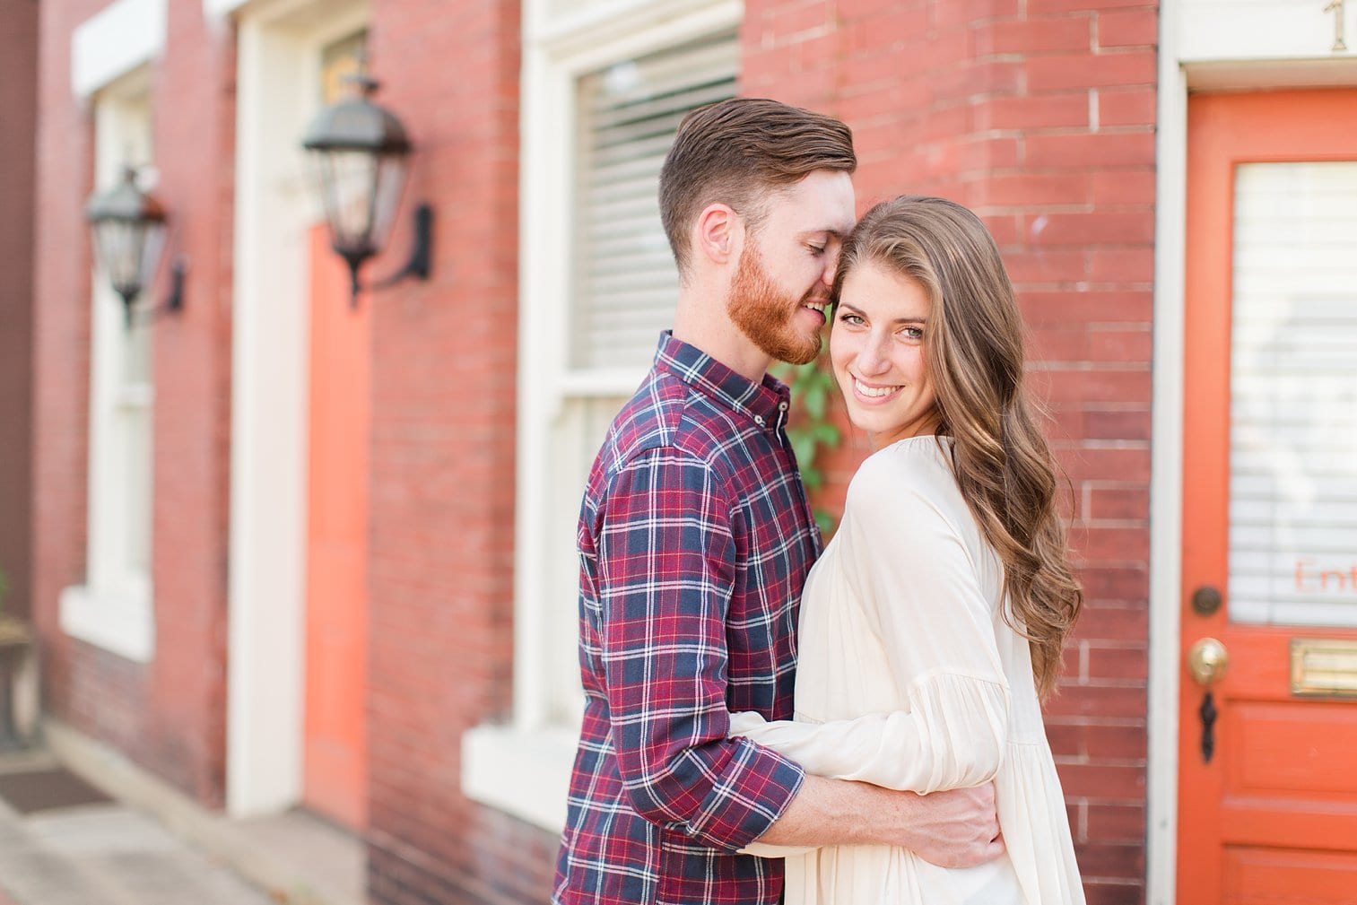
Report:
[[[461,737],[461,791],[474,802],[559,833],[578,733],[476,726]]]

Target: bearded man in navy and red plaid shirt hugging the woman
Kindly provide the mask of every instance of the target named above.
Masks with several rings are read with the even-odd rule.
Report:
[[[776,845],[995,858],[989,787],[920,796],[807,776],[731,711],[790,719],[820,533],[775,358],[813,361],[854,225],[845,125],[772,100],[703,107],[660,178],[672,334],[609,429],[579,518],[585,719],[552,901],[772,905]]]

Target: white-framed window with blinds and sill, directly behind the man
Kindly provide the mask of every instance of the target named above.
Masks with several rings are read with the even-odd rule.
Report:
[[[539,8],[525,22],[514,710],[510,726],[468,733],[463,788],[551,829],[584,710],[579,499],[678,292],[660,167],[689,110],[735,94],[740,5],[674,9],[586,11],[559,27]]]

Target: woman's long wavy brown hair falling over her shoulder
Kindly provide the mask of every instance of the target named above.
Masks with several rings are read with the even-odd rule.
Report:
[[[1023,389],[1023,326],[999,247],[980,218],[944,198],[878,204],[844,243],[835,278],[875,261],[917,280],[931,311],[924,358],[939,434],[953,438],[961,494],[1004,564],[1004,619],[1031,646],[1045,699],[1083,608],[1056,510],[1057,468]]]

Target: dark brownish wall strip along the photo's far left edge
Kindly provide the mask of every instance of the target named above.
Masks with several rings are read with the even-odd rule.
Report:
[[[33,167],[38,100],[38,3],[0,5],[0,605],[26,616],[33,518]],[[0,592],[3,594],[3,592]]]

